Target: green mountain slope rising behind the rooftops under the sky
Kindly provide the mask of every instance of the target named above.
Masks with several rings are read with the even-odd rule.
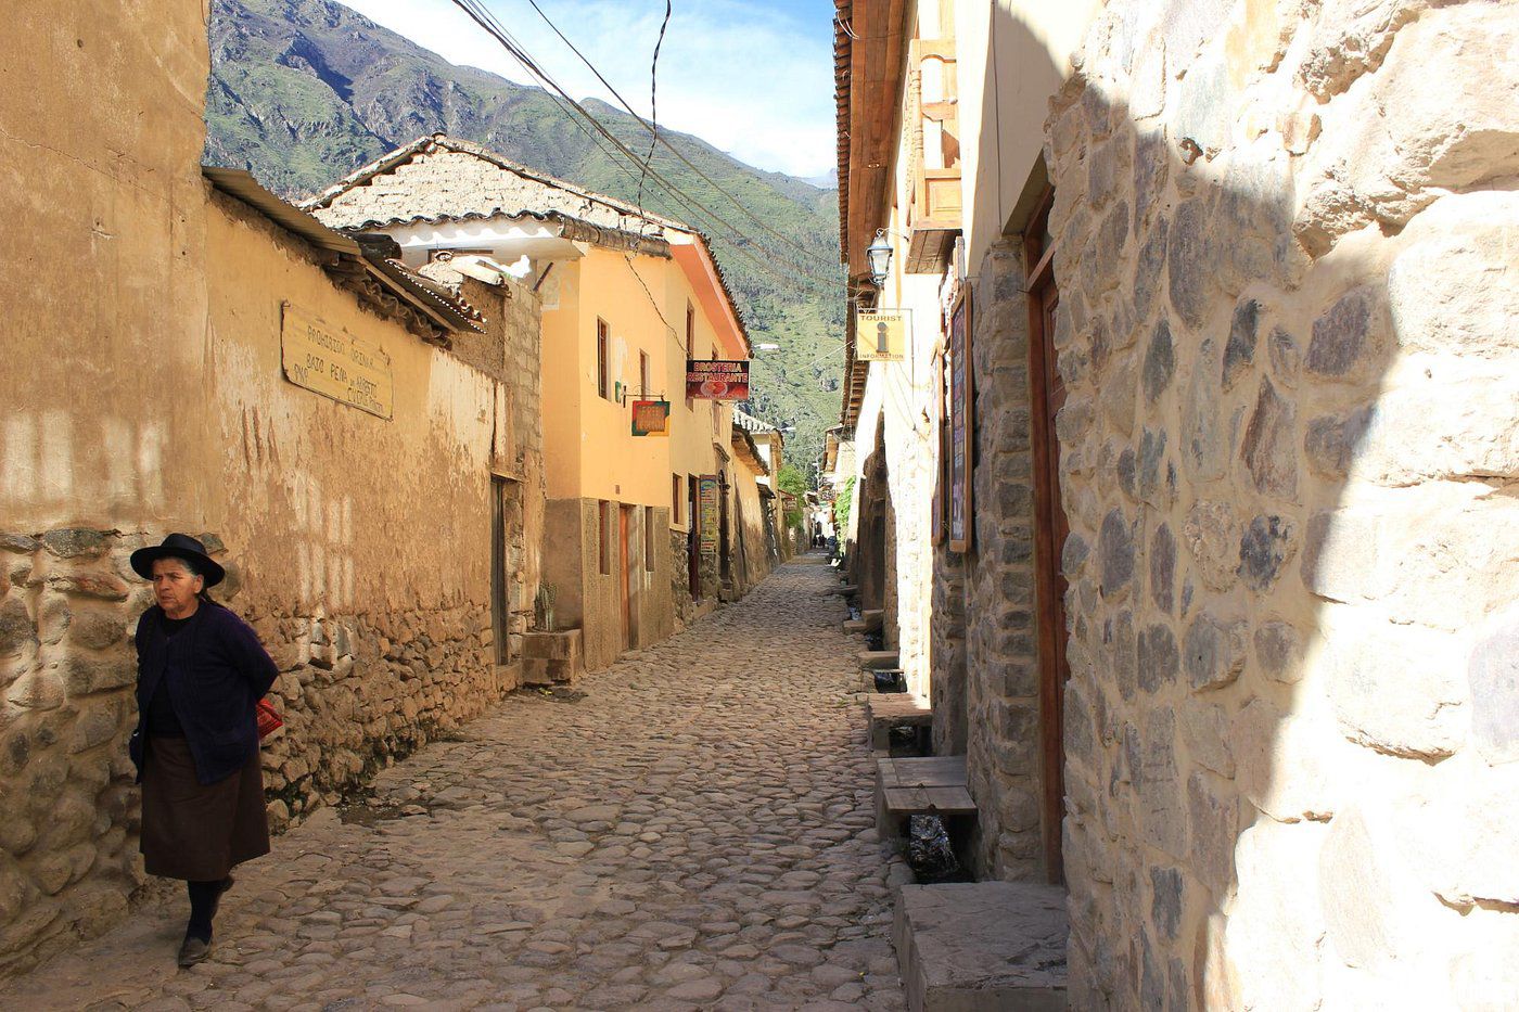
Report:
[[[597,100],[585,106],[639,155],[649,134]],[[456,67],[327,0],[214,0],[207,161],[249,169],[289,198],[308,196],[421,134],[447,131],[526,166],[635,201],[636,170],[609,157],[542,90]],[[843,299],[837,194],[763,172],[705,141],[670,134],[702,173],[737,198],[764,231],[697,172],[659,147],[655,170],[725,223],[684,207],[655,182],[643,204],[711,239],[756,345],[752,409],[796,425],[790,459],[810,463],[837,421]],[[605,144],[605,140],[603,140]],[[799,283],[799,275],[814,278]]]

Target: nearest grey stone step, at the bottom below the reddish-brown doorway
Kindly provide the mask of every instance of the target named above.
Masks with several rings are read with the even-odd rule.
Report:
[[[902,886],[892,941],[911,1012],[1066,1007],[1069,922],[1059,886]]]

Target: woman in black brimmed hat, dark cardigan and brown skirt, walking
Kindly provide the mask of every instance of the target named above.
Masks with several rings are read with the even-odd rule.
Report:
[[[269,852],[255,707],[278,670],[258,637],[207,590],[225,571],[188,535],[132,553],[156,605],[137,621],[137,731],[143,857],[182,878],[190,922],[179,965],[211,953],[211,919],[235,865]]]

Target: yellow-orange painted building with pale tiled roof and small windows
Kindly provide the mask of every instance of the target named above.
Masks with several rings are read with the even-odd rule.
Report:
[[[390,236],[407,266],[482,257],[539,295],[544,580],[556,625],[582,629],[591,670],[746,590],[732,409],[687,400],[685,372],[688,357],[747,360],[749,340],[699,232],[441,134],[310,210]],[[668,435],[633,435],[638,400],[670,403]],[[703,477],[718,500],[705,539]]]

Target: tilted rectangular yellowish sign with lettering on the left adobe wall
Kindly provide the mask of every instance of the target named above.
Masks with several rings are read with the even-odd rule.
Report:
[[[378,418],[395,413],[390,356],[289,302],[279,315],[279,363],[296,386]]]

